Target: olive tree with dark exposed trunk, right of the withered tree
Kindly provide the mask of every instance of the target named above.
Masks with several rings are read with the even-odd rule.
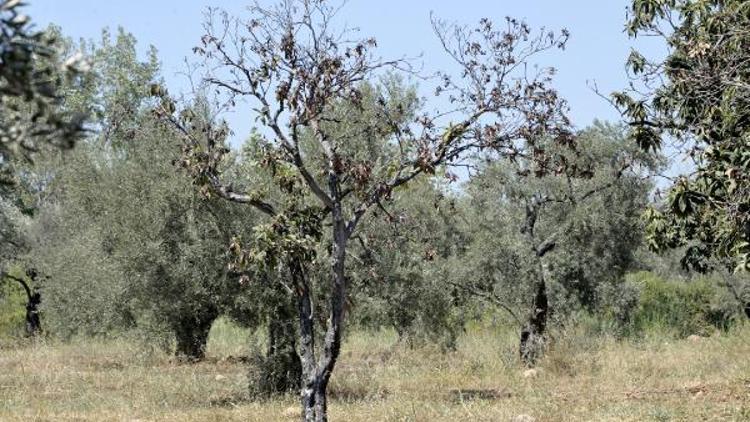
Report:
[[[560,151],[567,165],[556,172],[529,179],[524,158],[490,161],[467,187],[472,243],[453,277],[472,282],[454,284],[521,326],[527,365],[540,356],[553,313],[597,309],[600,290],[633,267],[645,176],[658,166],[617,126],[596,123],[576,144],[579,151]]]

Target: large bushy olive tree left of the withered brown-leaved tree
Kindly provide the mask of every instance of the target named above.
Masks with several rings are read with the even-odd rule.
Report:
[[[155,51],[139,60],[123,30],[114,42],[105,31],[100,46],[84,47],[92,77],[68,102],[91,109],[96,130],[76,151],[38,166],[50,176],[30,259],[52,277],[43,285],[52,328],[166,332],[178,356],[202,359],[213,321],[247,293],[228,281],[223,257],[252,216],[240,220],[233,204],[204,200],[172,166],[180,141],[148,108]],[[255,314],[243,321],[258,323]]]

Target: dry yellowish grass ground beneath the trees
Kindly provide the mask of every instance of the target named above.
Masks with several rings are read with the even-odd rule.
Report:
[[[297,420],[293,396],[247,399],[246,344],[226,323],[193,365],[126,340],[6,344],[0,421]],[[748,421],[750,325],[697,341],[561,336],[531,377],[510,332],[471,329],[448,354],[354,333],[330,396],[331,419],[347,422]]]

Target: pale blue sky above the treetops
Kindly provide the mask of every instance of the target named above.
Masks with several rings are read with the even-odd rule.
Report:
[[[219,6],[240,15],[249,0],[29,0],[26,12],[40,27],[54,23],[74,39],[101,37],[105,27],[123,27],[139,41],[142,51],[154,45],[162,60],[162,73],[171,92],[187,87],[182,72],[185,58],[203,34],[201,23],[208,6]],[[267,4],[271,0],[261,0]],[[617,111],[593,90],[603,93],[627,84],[625,60],[631,47],[658,54],[653,41],[631,40],[624,33],[628,0],[349,0],[338,19],[357,27],[362,37],[378,40],[384,58],[420,57],[426,73],[450,66],[435,37],[430,13],[460,24],[476,24],[482,17],[495,21],[505,16],[523,18],[533,28],[567,28],[570,41],[563,52],[545,54],[538,61],[554,66],[555,86],[568,100],[578,128],[594,119],[616,121]],[[246,16],[246,14],[245,14]],[[428,95],[424,92],[423,95]],[[252,128],[252,117],[228,116],[236,133]]]

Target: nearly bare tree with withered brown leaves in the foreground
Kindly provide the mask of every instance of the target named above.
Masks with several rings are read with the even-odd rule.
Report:
[[[350,41],[333,26],[336,8],[318,0],[249,7],[250,20],[209,14],[207,34],[196,53],[207,61],[205,82],[231,106],[249,103],[268,138],[263,161],[286,191],[273,198],[262,190],[238,191],[218,168],[228,129],[196,120],[189,108],[176,112],[165,90],[156,113],[184,138],[182,166],[208,195],[255,207],[268,223],[250,242],[230,246],[237,267],[290,267],[290,291],[298,303],[303,419],[327,420],[328,383],[341,348],[347,299],[346,256],[365,215],[424,174],[458,163],[472,150],[526,155],[543,174],[550,161],[537,147],[542,139],[572,144],[564,102],[549,86],[551,71],[529,68],[530,57],[562,47],[567,34],[532,34],[507,19],[502,29],[482,20],[476,30],[435,22],[446,52],[461,75],[442,75],[439,93],[450,110],[419,113],[404,124],[387,87],[375,110],[361,108],[366,82],[378,85],[385,70],[403,70],[401,60],[376,60],[375,40]],[[337,110],[347,104],[342,116]],[[450,120],[453,119],[451,123]],[[366,128],[363,133],[353,128]],[[371,145],[390,145],[390,149]],[[381,151],[388,154],[383,157]],[[312,205],[311,205],[312,204]],[[323,236],[324,230],[327,235]],[[320,248],[316,249],[316,246]],[[309,282],[305,267],[316,252],[328,258],[327,285]],[[322,345],[315,347],[313,288],[325,292],[328,313]],[[317,312],[321,312],[318,310]]]

